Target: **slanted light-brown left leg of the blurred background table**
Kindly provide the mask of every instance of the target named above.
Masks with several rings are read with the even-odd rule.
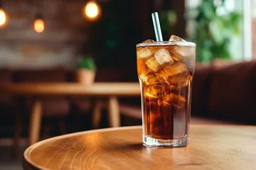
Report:
[[[29,125],[28,146],[38,142],[42,119],[42,102],[36,100],[33,102],[31,110],[31,119]]]

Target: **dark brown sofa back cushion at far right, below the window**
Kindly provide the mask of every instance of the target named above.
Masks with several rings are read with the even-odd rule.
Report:
[[[208,109],[211,117],[256,124],[256,62],[213,69]]]

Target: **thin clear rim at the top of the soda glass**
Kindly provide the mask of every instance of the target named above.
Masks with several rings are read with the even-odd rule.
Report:
[[[141,42],[136,47],[146,46],[167,46],[167,45],[178,45],[183,47],[196,47],[196,43],[188,41],[154,41],[154,42]]]

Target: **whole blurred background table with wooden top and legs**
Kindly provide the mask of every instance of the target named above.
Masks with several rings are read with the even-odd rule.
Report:
[[[32,96],[31,118],[28,132],[28,145],[38,142],[41,129],[43,96],[92,96],[107,97],[107,109],[110,127],[120,126],[119,96],[140,96],[139,83],[95,83],[86,86],[78,83],[14,83],[0,84],[0,94],[13,96]],[[96,100],[93,109],[92,125],[98,128],[100,123],[100,101]],[[18,126],[17,126],[18,127]],[[18,131],[18,130],[16,130]],[[18,145],[18,132],[15,132],[14,143]]]

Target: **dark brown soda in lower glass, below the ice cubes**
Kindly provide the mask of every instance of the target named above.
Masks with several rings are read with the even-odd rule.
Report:
[[[161,140],[186,137],[190,118],[191,81],[180,90],[171,91],[176,96],[186,98],[184,106],[177,106],[176,100],[165,103],[161,98],[144,97],[144,133]]]

